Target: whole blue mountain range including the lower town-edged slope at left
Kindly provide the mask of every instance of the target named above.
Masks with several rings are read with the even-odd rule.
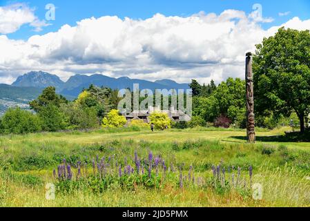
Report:
[[[170,79],[146,81],[142,79],[130,79],[129,77],[108,77],[105,75],[73,75],[68,81],[62,81],[57,75],[43,71],[31,71],[17,77],[12,85],[0,84],[0,115],[9,107],[20,106],[29,108],[28,102],[39,96],[43,88],[54,86],[57,93],[68,99],[75,99],[84,88],[90,84],[104,86],[112,89],[130,88],[133,84],[139,84],[139,89],[189,89],[188,84],[178,84]]]

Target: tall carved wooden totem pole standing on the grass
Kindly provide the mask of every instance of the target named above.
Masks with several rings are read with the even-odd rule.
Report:
[[[246,81],[246,135],[249,143],[255,143],[254,92],[253,92],[253,72],[252,72],[251,52],[246,53],[245,81]]]

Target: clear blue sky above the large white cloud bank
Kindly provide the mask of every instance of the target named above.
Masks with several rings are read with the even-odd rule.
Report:
[[[12,3],[23,1],[0,1],[0,6],[10,5]],[[75,26],[77,21],[90,17],[101,17],[105,15],[116,15],[119,18],[130,17],[131,19],[147,19],[153,17],[156,13],[166,16],[187,17],[197,12],[204,11],[206,13],[215,12],[220,14],[226,9],[242,10],[250,13],[253,11],[252,6],[255,3],[262,5],[263,17],[272,17],[271,23],[262,23],[263,28],[278,26],[285,23],[293,17],[300,19],[310,18],[310,1],[309,0],[32,0],[24,1],[28,3],[30,8],[35,8],[35,15],[39,19],[44,19],[48,3],[56,6],[56,20],[52,21],[51,26],[43,28],[39,33],[33,32],[30,26],[23,26],[17,32],[9,34],[11,39],[27,39],[34,34],[45,34],[47,32],[57,31],[64,24]],[[289,12],[289,15],[280,17],[278,14]]]

